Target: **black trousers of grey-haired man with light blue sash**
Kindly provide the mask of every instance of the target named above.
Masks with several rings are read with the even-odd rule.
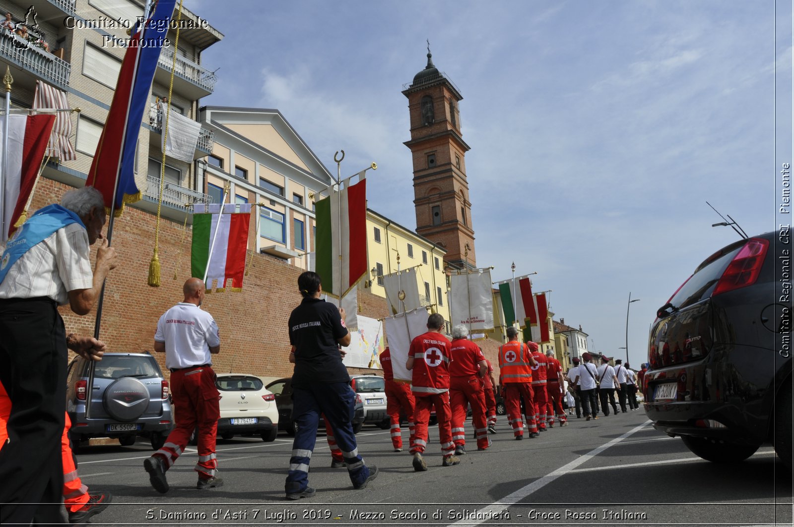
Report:
[[[49,298],[0,300],[0,335],[0,383],[11,400],[8,442],[0,450],[0,523],[60,524],[64,321]]]

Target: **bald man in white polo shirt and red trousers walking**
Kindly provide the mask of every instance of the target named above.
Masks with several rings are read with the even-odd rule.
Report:
[[[188,279],[182,288],[184,302],[166,311],[157,322],[154,351],[165,353],[165,366],[171,370],[175,427],[163,448],[144,460],[152,487],[168,492],[165,471],[182,455],[191,434],[198,427],[198,489],[221,487],[215,476],[215,440],[218,417],[218,388],[210,354],[221,351],[218,325],[212,315],[199,309],[204,300],[204,283]]]

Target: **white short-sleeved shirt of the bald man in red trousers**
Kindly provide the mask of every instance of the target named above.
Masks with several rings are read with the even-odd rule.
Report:
[[[179,302],[157,321],[156,342],[165,344],[165,367],[212,364],[210,348],[221,344],[215,319],[190,302]]]

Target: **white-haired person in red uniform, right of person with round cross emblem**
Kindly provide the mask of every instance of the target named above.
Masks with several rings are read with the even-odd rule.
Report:
[[[488,363],[480,346],[468,340],[468,329],[459,324],[452,329],[452,361],[449,363],[449,403],[452,406],[452,439],[455,455],[466,453],[466,409],[472,406],[472,425],[477,439],[477,450],[491,446],[488,439],[488,421],[485,417],[485,391],[483,378]]]

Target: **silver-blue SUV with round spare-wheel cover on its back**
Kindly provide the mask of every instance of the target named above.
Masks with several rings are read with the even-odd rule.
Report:
[[[72,360],[67,369],[66,410],[75,448],[91,437],[117,437],[123,446],[148,437],[163,446],[173,427],[168,381],[147,353],[105,353],[94,363],[94,386],[88,390],[89,362]],[[90,395],[89,395],[90,393]],[[86,418],[87,399],[91,418]]]

